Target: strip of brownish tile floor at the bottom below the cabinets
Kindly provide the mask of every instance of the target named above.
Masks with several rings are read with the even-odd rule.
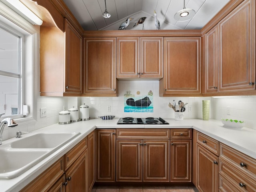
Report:
[[[195,186],[94,186],[91,192],[198,192]]]

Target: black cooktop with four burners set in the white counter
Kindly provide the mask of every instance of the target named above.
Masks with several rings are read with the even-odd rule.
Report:
[[[120,118],[117,124],[169,124],[162,118],[154,118],[154,117],[147,117],[147,118],[133,118],[133,117],[124,117]]]

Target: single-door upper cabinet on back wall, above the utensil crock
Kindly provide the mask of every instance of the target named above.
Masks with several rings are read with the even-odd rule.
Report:
[[[201,94],[201,38],[164,38],[164,78],[159,95]]]

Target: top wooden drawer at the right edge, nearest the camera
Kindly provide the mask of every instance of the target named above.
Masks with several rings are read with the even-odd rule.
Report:
[[[241,171],[248,171],[256,178],[256,160],[225,144],[220,143],[220,157],[234,164]]]

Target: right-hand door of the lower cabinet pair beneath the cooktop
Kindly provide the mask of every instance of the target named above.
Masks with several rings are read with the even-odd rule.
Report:
[[[143,140],[143,181],[170,181],[170,141]]]

